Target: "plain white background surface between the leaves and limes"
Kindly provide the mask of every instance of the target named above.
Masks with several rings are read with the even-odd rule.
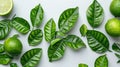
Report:
[[[39,65],[37,67],[78,67],[79,63],[86,63],[89,65],[89,67],[94,67],[95,59],[103,54],[97,54],[97,53],[93,52],[89,48],[86,38],[81,37],[81,35],[79,33],[79,27],[83,23],[88,26],[88,29],[92,29],[86,19],[86,10],[87,10],[88,6],[92,3],[92,1],[93,0],[14,0],[14,8],[13,8],[11,15],[6,16],[6,17],[0,17],[0,20],[5,19],[5,18],[11,18],[14,14],[16,14],[16,16],[27,19],[29,21],[29,23],[31,24],[30,11],[32,8],[34,8],[36,5],[38,5],[40,3],[42,5],[42,7],[44,9],[44,13],[45,13],[44,21],[43,21],[42,25],[40,26],[40,28],[43,30],[45,23],[50,18],[54,18],[54,20],[57,24],[58,18],[64,10],[78,6],[80,17],[79,17],[79,20],[76,23],[75,27],[72,29],[72,31],[69,34],[76,34],[76,35],[80,36],[80,38],[83,39],[83,41],[87,45],[87,48],[83,48],[78,51],[74,51],[74,50],[70,49],[69,47],[67,47],[64,57],[61,60],[54,61],[51,63],[51,62],[49,62],[48,56],[47,56],[47,49],[48,49],[49,43],[47,43],[45,41],[45,39],[43,39],[42,43],[40,45],[36,46],[36,47],[40,47],[43,49],[43,55],[42,55]],[[96,30],[103,32],[108,37],[108,39],[110,41],[110,49],[111,49],[113,42],[120,40],[120,37],[119,38],[110,37],[105,32],[105,28],[104,28],[107,20],[110,18],[113,18],[113,16],[109,12],[109,5],[112,0],[98,0],[98,1],[104,9],[105,18],[104,18],[102,25],[99,26],[98,28],[96,28]],[[15,30],[12,30],[12,32],[10,33],[10,35],[8,37],[11,37],[14,34],[18,34],[18,32]],[[28,34],[27,35],[20,34],[20,37],[19,37],[19,39],[23,43],[22,54],[31,48],[36,48],[36,47],[31,47],[28,45],[27,37],[28,37]],[[0,41],[0,43],[3,43],[3,41]],[[21,54],[21,56],[22,56],[22,54]],[[107,54],[107,57],[109,60],[109,67],[120,67],[120,64],[116,63],[118,58],[116,58],[113,53],[106,52],[106,54]],[[22,67],[20,64],[20,57],[14,58],[14,60],[12,62],[17,63],[19,65],[19,67]],[[8,66],[0,65],[0,67],[9,67],[9,65]]]

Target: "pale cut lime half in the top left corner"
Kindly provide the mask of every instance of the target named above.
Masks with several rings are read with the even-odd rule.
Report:
[[[0,15],[6,15],[13,8],[13,0],[0,0]]]

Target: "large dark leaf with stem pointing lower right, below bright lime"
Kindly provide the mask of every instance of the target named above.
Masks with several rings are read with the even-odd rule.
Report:
[[[104,53],[109,50],[109,41],[107,37],[95,30],[87,31],[87,40],[90,48],[97,53]]]

